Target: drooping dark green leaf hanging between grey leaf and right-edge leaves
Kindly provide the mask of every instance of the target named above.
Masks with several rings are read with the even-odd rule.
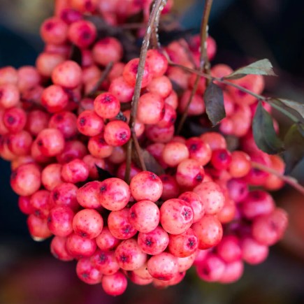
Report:
[[[282,140],[277,137],[277,133],[275,133],[275,129],[273,128],[273,118],[263,108],[261,102],[259,102],[256,108],[252,131],[256,145],[263,152],[277,154],[284,150]]]

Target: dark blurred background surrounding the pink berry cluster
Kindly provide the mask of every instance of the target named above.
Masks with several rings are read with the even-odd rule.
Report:
[[[52,15],[52,6],[52,0],[0,0],[0,66],[35,63],[43,50],[39,27]],[[184,28],[199,29],[203,0],[175,0],[174,10]],[[298,0],[215,0],[210,17],[210,35],[218,47],[214,62],[236,68],[268,58],[280,75],[267,80],[268,92],[302,101],[303,13],[304,3]],[[289,122],[277,118],[284,131]],[[292,174],[304,182],[304,166],[300,164]],[[156,290],[130,283],[126,294],[112,298],[101,287],[80,282],[74,263],[54,259],[48,240],[36,243],[29,237],[9,175],[9,164],[0,160],[1,304],[304,303],[304,198],[289,187],[274,194],[289,212],[291,223],[284,239],[271,247],[266,262],[246,266],[239,282],[204,283],[190,271],[176,287]]]

